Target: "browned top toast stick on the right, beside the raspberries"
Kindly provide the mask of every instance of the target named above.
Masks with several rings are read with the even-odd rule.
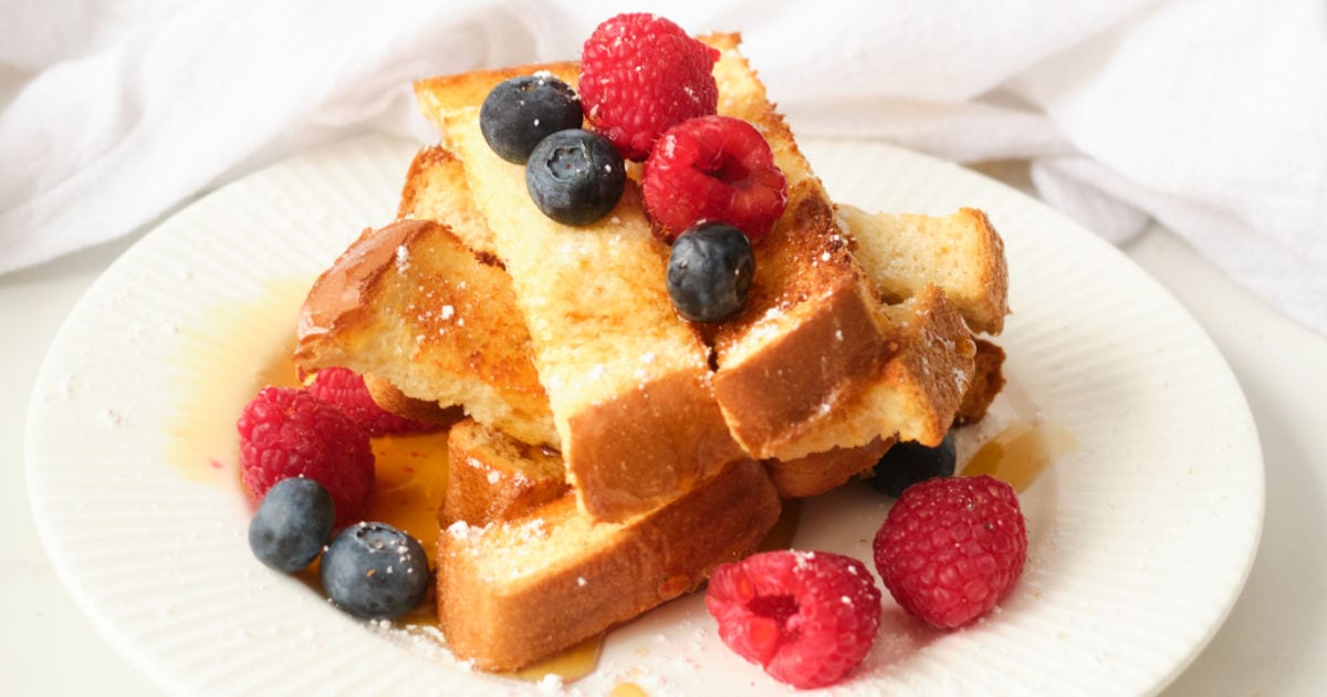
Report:
[[[721,52],[714,66],[719,113],[754,125],[788,182],[787,210],[755,244],[756,271],[746,305],[714,335],[714,388],[748,453],[787,459],[790,443],[819,429],[878,374],[893,328],[824,187],[738,52],[740,37],[705,40]]]

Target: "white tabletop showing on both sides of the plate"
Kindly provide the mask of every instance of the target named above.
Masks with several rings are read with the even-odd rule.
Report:
[[[1016,165],[986,171],[1026,187]],[[28,398],[48,344],[92,281],[141,235],[0,276],[0,694],[161,694],[61,585],[32,520],[23,458]],[[1124,251],[1225,354],[1253,409],[1267,471],[1266,522],[1247,585],[1165,694],[1327,694],[1327,337],[1269,309],[1160,227]]]

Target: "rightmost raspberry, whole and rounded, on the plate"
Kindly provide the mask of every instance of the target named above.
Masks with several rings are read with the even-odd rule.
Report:
[[[1027,528],[1014,487],[999,479],[928,479],[898,497],[873,548],[894,600],[951,629],[989,612],[1014,587]]]

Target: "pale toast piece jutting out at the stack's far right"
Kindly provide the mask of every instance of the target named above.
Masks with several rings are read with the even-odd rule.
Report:
[[[868,214],[847,204],[839,204],[837,211],[856,240],[857,259],[886,301],[898,303],[934,283],[974,332],[998,335],[1005,328],[1005,242],[985,212]]]

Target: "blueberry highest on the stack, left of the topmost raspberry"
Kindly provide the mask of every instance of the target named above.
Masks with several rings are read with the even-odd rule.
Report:
[[[584,116],[567,82],[535,73],[506,80],[488,92],[479,108],[479,131],[498,157],[524,165],[547,135],[579,129]]]

